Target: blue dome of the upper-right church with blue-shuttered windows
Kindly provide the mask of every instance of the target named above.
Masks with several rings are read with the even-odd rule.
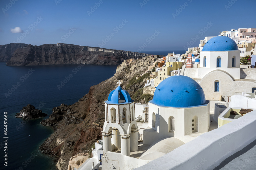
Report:
[[[237,44],[229,37],[217,36],[207,41],[202,51],[234,51],[239,50]]]

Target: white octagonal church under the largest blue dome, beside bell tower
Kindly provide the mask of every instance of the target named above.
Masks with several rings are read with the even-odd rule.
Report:
[[[176,75],[162,81],[148,102],[148,126],[143,131],[145,144],[165,137],[186,143],[194,139],[190,135],[208,132],[209,101],[201,86],[187,76]]]

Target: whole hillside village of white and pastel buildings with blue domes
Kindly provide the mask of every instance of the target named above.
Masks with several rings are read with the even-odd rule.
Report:
[[[154,62],[133,81],[146,81],[142,94],[153,99],[135,103],[142,94],[130,96],[131,80],[113,82],[102,139],[91,158],[70,158],[68,170],[214,169],[256,140],[255,30],[223,31],[186,54],[150,56]]]

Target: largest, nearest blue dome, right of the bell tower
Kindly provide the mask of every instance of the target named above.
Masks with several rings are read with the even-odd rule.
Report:
[[[151,103],[167,107],[192,107],[205,104],[201,86],[187,76],[171,76],[157,87]]]

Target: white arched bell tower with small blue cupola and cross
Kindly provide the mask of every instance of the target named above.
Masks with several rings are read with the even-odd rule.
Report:
[[[111,141],[111,135],[112,141]],[[135,121],[134,101],[119,86],[105,101],[105,122],[102,130],[103,154],[121,148],[122,155],[138,150],[138,127]],[[113,144],[113,145],[112,145]]]

